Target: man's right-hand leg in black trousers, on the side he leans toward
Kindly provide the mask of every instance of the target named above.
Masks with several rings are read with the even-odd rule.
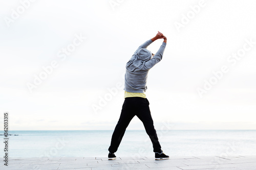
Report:
[[[150,136],[150,139],[153,144],[154,152],[161,153],[161,145],[158,141],[158,137],[154,127],[149,105],[150,103],[148,102],[148,100],[143,99],[140,107],[138,108],[138,112],[136,115],[142,121],[147,135]]]

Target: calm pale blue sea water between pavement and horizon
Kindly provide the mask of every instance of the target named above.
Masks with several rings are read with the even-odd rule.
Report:
[[[113,130],[10,131],[9,157],[106,157]],[[16,136],[14,136],[14,134]],[[157,130],[169,156],[256,155],[255,130]],[[4,136],[1,135],[2,141]],[[1,147],[1,145],[0,145]],[[4,143],[1,147],[4,154]],[[116,156],[154,156],[144,130],[126,130]]]

